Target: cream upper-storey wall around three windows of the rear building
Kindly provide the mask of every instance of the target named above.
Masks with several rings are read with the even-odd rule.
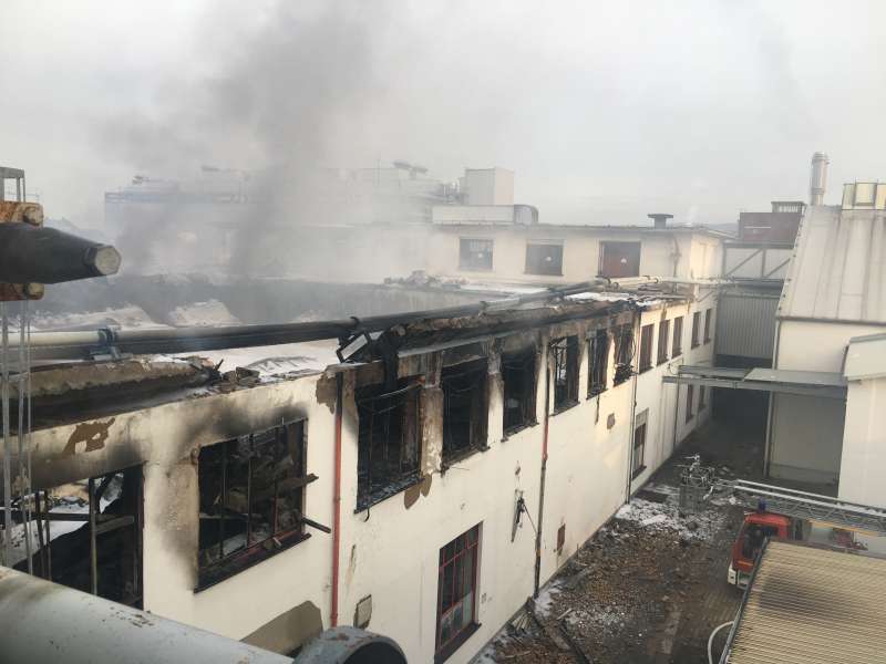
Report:
[[[493,267],[487,271],[467,271],[459,266],[461,238],[493,240]],[[527,274],[526,245],[533,240],[560,240],[563,274]],[[464,277],[476,281],[509,283],[574,283],[599,272],[600,242],[639,241],[640,274],[694,279],[717,277],[721,267],[721,243],[701,234],[612,231],[606,228],[544,225],[533,227],[435,227],[427,252],[427,271],[433,274]],[[676,264],[674,264],[676,263]]]

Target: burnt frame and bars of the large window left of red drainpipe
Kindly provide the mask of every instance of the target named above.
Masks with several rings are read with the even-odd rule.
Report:
[[[298,425],[298,440],[296,445],[299,447],[299,455],[301,457],[301,474],[291,476],[291,479],[296,480],[296,486],[293,487],[295,490],[300,492],[298,507],[293,508],[295,512],[298,512],[297,517],[297,526],[288,529],[278,530],[278,512],[276,508],[276,502],[280,499],[279,487],[275,486],[275,495],[274,495],[274,502],[275,502],[275,511],[274,511],[274,529],[271,530],[270,536],[254,541],[250,543],[249,537],[251,535],[251,515],[253,515],[253,506],[254,506],[254,496],[251,496],[251,484],[253,484],[253,456],[255,455],[255,438],[256,436],[261,436],[269,432],[276,432],[277,436],[280,435],[288,435],[288,430],[290,427]],[[222,447],[222,478],[220,478],[220,496],[222,496],[222,509],[227,510],[227,502],[228,502],[228,458],[230,455],[230,448],[233,447],[235,452],[237,452],[237,445],[243,442],[245,438],[249,439],[250,450],[249,450],[249,460],[248,460],[248,479],[247,479],[247,539],[246,543],[243,548],[237,549],[230,553],[225,553],[225,541],[229,538],[224,536],[225,532],[225,515],[224,511],[222,512],[222,517],[218,519],[219,521],[219,529],[223,532],[223,538],[216,543],[214,542],[212,546],[219,547],[219,558],[217,560],[213,560],[209,563],[204,563],[202,561],[202,553],[203,551],[207,550],[209,547],[200,548],[198,543],[198,554],[197,554],[197,585],[194,589],[194,592],[199,592],[217,583],[220,583],[231,577],[236,577],[240,572],[277,556],[278,553],[282,553],[284,551],[291,549],[296,544],[303,542],[305,540],[309,539],[311,535],[306,532],[305,527],[307,525],[307,519],[305,518],[305,502],[307,498],[307,487],[310,483],[317,479],[316,475],[311,475],[307,473],[308,468],[308,436],[307,436],[307,419],[306,418],[297,418],[289,422],[285,422],[277,426],[271,426],[265,429],[258,429],[246,434],[244,436],[238,436],[236,438],[229,438],[227,440],[220,440],[218,443],[214,443],[212,445],[205,445],[200,447],[200,456],[203,456],[204,450],[208,450],[212,448],[216,448],[218,446]],[[289,445],[289,440],[284,440],[284,445]],[[207,463],[205,459],[198,459],[198,487],[199,487],[199,466],[200,464]],[[277,480],[275,480],[275,485]],[[199,490],[199,488],[198,488]],[[202,502],[202,496],[200,496]],[[199,515],[204,513],[202,510],[202,505],[198,506]],[[207,517],[209,515],[207,513]],[[198,519],[203,520],[203,519]],[[212,519],[215,520],[215,519]],[[271,542],[274,548],[267,548],[267,543]]]

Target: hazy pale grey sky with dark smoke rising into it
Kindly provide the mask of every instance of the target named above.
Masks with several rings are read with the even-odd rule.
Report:
[[[886,3],[4,0],[0,164],[100,225],[134,174],[516,172],[540,220],[734,221],[886,177]],[[308,185],[305,185],[306,187]],[[297,196],[297,191],[295,195]]]

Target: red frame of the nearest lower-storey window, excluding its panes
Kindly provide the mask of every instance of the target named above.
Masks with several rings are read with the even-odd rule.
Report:
[[[480,580],[480,538],[482,537],[483,529],[482,522],[477,523],[473,528],[470,528],[452,541],[447,542],[445,546],[440,548],[440,556],[437,559],[437,599],[436,599],[436,629],[434,632],[434,662],[444,662],[450,656],[455,653],[471,635],[477,631],[480,627],[480,621],[477,621],[477,581]],[[473,541],[472,536],[473,535]],[[459,548],[459,544],[462,543],[462,548]],[[446,558],[447,552],[446,550],[452,547],[452,557]],[[450,634],[450,637],[445,641],[445,643],[441,643],[442,640],[442,631],[443,631],[443,621],[444,619],[454,613],[459,605],[462,605],[462,610],[464,611],[464,599],[467,595],[462,595],[462,599],[459,601],[453,601],[449,608],[445,610],[443,609],[443,591],[445,589],[445,574],[446,568],[453,567],[453,577],[455,574],[455,570],[457,570],[459,561],[464,560],[466,556],[471,556],[471,619],[466,622],[455,634]],[[464,562],[462,562],[462,583],[464,583]],[[453,598],[456,591],[455,583],[452,583],[453,590]],[[462,613],[464,615],[464,613]]]

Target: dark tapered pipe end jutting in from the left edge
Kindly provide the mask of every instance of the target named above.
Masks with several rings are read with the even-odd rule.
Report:
[[[0,224],[0,281],[61,283],[115,274],[120,253],[54,228]]]

